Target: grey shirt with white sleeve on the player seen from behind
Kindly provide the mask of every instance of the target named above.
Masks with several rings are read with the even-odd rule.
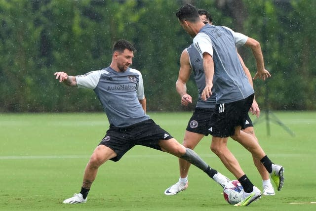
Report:
[[[232,30],[207,24],[193,42],[200,56],[207,52],[213,57],[216,103],[235,102],[254,93],[237,56],[237,41]]]

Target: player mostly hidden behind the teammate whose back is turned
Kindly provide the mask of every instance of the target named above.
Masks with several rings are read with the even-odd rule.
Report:
[[[198,14],[200,19],[205,24],[212,24],[212,17],[211,15],[206,11],[199,9]],[[245,35],[235,33],[237,36],[237,45],[243,45],[250,46],[251,48],[254,48],[253,52],[260,53],[259,42],[252,38],[248,38]],[[262,54],[261,54],[262,55]],[[255,56],[255,58],[262,58],[262,56]],[[252,78],[250,75],[250,72],[248,68],[244,65],[243,60],[240,57],[240,62],[242,65],[242,68],[250,82],[252,84]],[[260,62],[259,62],[260,63]],[[203,71],[203,62],[200,59],[199,52],[197,49],[191,44],[188,48],[184,49],[182,51],[181,57],[180,57],[180,70],[179,70],[179,76],[178,80],[176,82],[176,89],[177,92],[181,96],[181,104],[184,106],[187,106],[189,103],[192,103],[192,97],[187,93],[187,87],[186,83],[190,79],[191,72],[194,73],[194,78],[197,84],[198,93],[199,96],[202,93],[202,90],[205,87],[205,75]],[[187,148],[194,149],[199,141],[205,136],[208,135],[208,123],[209,123],[209,117],[213,113],[214,107],[215,107],[215,98],[216,94],[214,93],[212,89],[212,96],[210,98],[207,98],[206,101],[201,100],[198,98],[197,100],[197,106],[195,109],[195,112],[193,113],[192,117],[189,120],[188,126],[185,131],[183,145]],[[252,114],[256,114],[257,117],[260,115],[260,109],[259,106],[254,99],[252,102],[252,106],[250,108],[250,111]],[[245,122],[245,129],[243,130],[246,133],[251,134],[256,141],[258,141],[257,137],[255,136],[255,132],[253,129],[253,125],[251,122],[251,119],[249,118],[249,115],[247,114],[246,122]],[[253,157],[253,161],[255,166],[257,167],[261,177],[262,177],[262,186],[263,186],[263,195],[275,195],[275,190],[271,184],[269,173],[265,169],[265,167],[262,165],[260,160],[258,160],[256,157]],[[188,187],[188,172],[190,168],[190,163],[183,159],[179,159],[179,166],[180,166],[180,178],[177,183],[170,186],[164,191],[165,195],[176,195],[180,193],[180,191],[184,191]]]

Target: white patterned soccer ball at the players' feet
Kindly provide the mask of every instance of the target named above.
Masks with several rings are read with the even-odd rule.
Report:
[[[223,190],[226,202],[235,205],[241,201],[243,188],[238,180],[228,182]]]

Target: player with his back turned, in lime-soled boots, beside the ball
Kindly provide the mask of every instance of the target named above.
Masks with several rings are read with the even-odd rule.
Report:
[[[243,187],[242,200],[235,206],[247,206],[258,200],[262,193],[252,184],[228,149],[228,137],[237,140],[260,160],[276,182],[277,189],[281,190],[284,180],[283,167],[273,164],[255,138],[241,131],[241,128],[245,128],[244,124],[253,102],[254,90],[239,61],[234,32],[221,26],[205,25],[199,18],[197,8],[192,4],[183,5],[176,16],[183,29],[194,37],[194,46],[203,60],[205,88],[201,93],[202,100],[211,96],[214,84],[216,104],[210,116],[208,129],[212,135],[211,150]],[[263,65],[257,66],[255,79],[266,80],[271,76],[263,67]]]

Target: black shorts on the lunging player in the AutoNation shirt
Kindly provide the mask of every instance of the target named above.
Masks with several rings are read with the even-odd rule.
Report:
[[[110,126],[99,145],[105,145],[116,152],[117,157],[111,160],[117,162],[135,145],[161,150],[158,141],[170,138],[173,137],[167,131],[149,119],[128,127]]]

